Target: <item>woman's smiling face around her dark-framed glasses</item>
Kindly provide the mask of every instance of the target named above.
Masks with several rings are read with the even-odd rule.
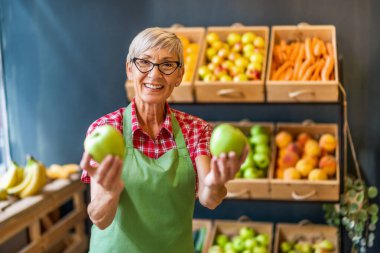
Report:
[[[137,55],[137,58],[153,63],[178,61],[179,57],[167,48],[151,48]],[[146,104],[164,104],[178,86],[184,74],[183,67],[178,67],[172,74],[165,75],[158,66],[147,73],[141,73],[133,62],[127,62],[127,75],[133,81],[135,99]]]

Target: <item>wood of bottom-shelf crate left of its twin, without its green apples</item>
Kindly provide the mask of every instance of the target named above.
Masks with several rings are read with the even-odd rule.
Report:
[[[225,234],[228,237],[239,235],[239,230],[242,227],[249,227],[256,231],[256,233],[269,235],[268,252],[272,252],[272,240],[273,240],[273,223],[270,222],[253,222],[253,221],[234,221],[234,220],[215,220],[211,233],[210,243],[207,245],[209,249],[214,245],[216,236],[218,234]]]

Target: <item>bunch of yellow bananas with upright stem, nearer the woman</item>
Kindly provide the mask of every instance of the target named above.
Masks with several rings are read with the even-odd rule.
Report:
[[[8,194],[25,198],[41,191],[46,184],[45,165],[34,159],[32,156],[28,156],[25,173],[26,175],[24,179],[19,184],[7,190]]]

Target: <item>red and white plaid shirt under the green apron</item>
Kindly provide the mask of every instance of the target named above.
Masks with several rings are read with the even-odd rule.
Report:
[[[111,125],[123,133],[124,110],[125,108],[120,108],[119,110],[111,112],[96,120],[89,127],[87,135],[94,131],[95,128],[105,124]],[[170,118],[170,112],[173,112],[182,130],[191,161],[193,162],[194,171],[196,174],[196,185],[198,188],[195,158],[199,155],[207,155],[211,157],[210,138],[212,128],[206,121],[187,113],[171,109],[168,104],[166,104],[166,111],[167,114],[161,130],[156,139],[152,140],[152,138],[150,138],[149,135],[141,128],[136,115],[135,102],[134,100],[131,102],[133,146],[143,152],[146,156],[154,159],[159,158],[168,150],[176,148]],[[97,166],[97,163],[95,161],[91,161],[91,165]],[[90,183],[90,177],[87,175],[85,170],[83,170],[81,180],[84,183]]]

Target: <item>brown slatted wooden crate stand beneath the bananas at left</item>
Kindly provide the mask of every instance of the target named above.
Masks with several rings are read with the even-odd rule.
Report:
[[[41,194],[4,207],[0,212],[0,245],[27,230],[29,241],[20,252],[56,252],[57,247],[61,252],[85,252],[88,248],[84,229],[85,186],[79,177],[55,180],[47,184]],[[68,201],[73,202],[73,210],[53,223],[48,214]]]

